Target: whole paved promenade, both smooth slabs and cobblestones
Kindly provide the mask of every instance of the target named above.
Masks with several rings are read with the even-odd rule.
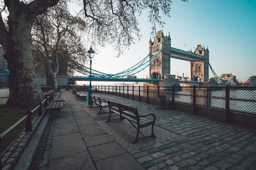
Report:
[[[87,101],[81,101],[70,91],[62,91],[61,95],[66,99],[61,116],[49,120],[31,170],[256,169],[256,130],[179,111],[159,110],[154,105],[119,96],[98,94],[137,107],[140,114],[156,115],[155,129],[161,134],[152,139],[153,144],[140,141],[128,153],[129,149],[120,142],[122,137],[113,136],[111,126],[102,123],[108,113],[96,115],[98,108],[88,109]],[[115,129],[128,127],[126,122],[123,124]],[[166,132],[171,137],[162,140],[162,133]]]

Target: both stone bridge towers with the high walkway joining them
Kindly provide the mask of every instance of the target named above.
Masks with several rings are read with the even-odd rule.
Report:
[[[171,58],[181,59],[190,62],[190,80],[197,81],[200,77],[202,82],[209,79],[209,49],[205,49],[198,43],[195,51],[184,51],[171,46],[170,33],[164,36],[162,30],[157,31],[157,36],[152,42],[149,40],[149,57],[153,57],[161,50],[157,59],[151,63],[149,74],[151,78],[164,79],[164,75],[171,74]]]

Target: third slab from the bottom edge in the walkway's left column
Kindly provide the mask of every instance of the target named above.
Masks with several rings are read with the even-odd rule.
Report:
[[[60,136],[77,132],[79,132],[79,130],[76,122],[70,122],[56,125],[53,136]]]

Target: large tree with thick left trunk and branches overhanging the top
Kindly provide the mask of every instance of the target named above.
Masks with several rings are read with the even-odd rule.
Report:
[[[55,6],[59,0],[0,0],[0,44],[6,51],[4,58],[9,68],[9,108],[28,108],[43,99],[43,93],[35,80],[32,59],[31,29],[38,15],[48,7]],[[170,16],[170,0],[77,0],[84,4],[85,23],[90,24],[89,33],[94,42],[104,46],[114,43],[122,54],[134,38],[140,38],[136,14],[149,8],[149,22],[152,30],[156,24],[163,25],[160,11]],[[182,0],[188,1],[188,0]],[[6,8],[7,7],[7,8]],[[7,24],[3,21],[2,11],[8,10]],[[135,35],[135,37],[134,37]],[[97,37],[97,38],[96,38]],[[53,47],[54,48],[54,47]],[[55,47],[58,49],[59,47]],[[55,51],[56,53],[58,52]]]

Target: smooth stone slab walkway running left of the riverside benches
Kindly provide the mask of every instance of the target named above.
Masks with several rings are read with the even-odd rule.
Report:
[[[61,98],[61,116],[49,120],[31,170],[143,170],[70,91]]]

